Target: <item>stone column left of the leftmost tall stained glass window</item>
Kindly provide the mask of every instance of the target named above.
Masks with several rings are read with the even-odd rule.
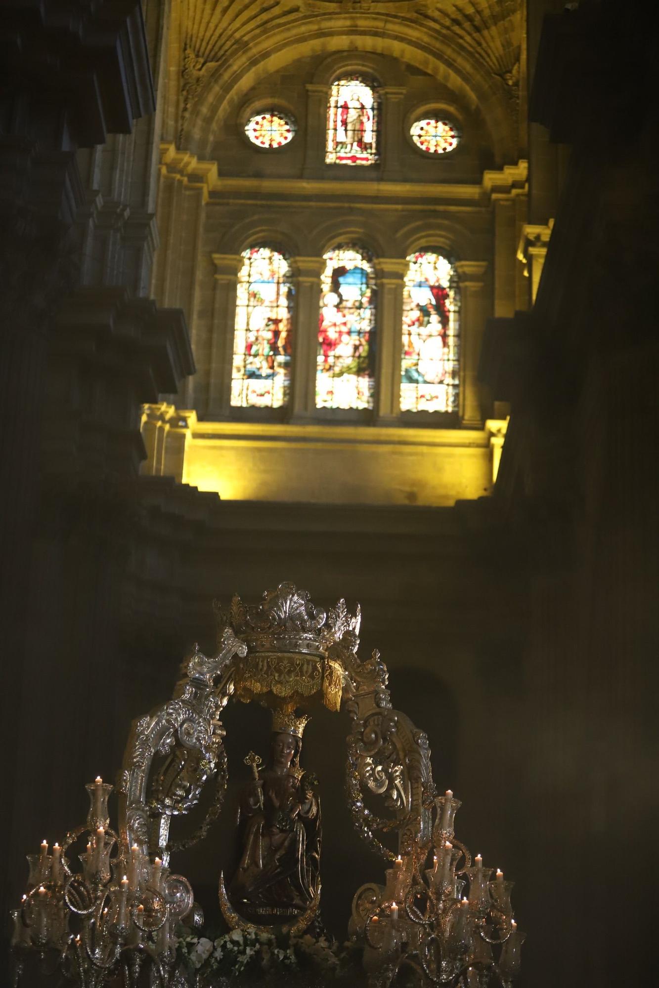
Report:
[[[235,288],[242,258],[239,254],[214,254],[213,263],[215,298],[207,414],[210,418],[225,419],[231,414]]]

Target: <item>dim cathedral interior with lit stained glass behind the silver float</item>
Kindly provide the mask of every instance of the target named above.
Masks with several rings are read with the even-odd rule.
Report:
[[[522,988],[650,983],[656,27],[4,0],[4,915],[213,601],[290,581],[361,605],[464,840],[515,877]],[[263,714],[227,708],[238,781]],[[341,716],[304,755],[336,936],[372,872]],[[181,856],[206,910],[230,840]]]

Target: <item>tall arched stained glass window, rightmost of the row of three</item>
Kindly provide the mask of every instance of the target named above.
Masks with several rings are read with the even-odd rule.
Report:
[[[455,412],[460,371],[460,296],[443,255],[408,258],[403,292],[401,411]]]

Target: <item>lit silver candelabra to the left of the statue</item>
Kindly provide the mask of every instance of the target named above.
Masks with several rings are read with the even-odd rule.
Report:
[[[38,955],[43,970],[59,970],[80,988],[100,988],[114,976],[136,988],[145,964],[152,969],[147,983],[177,988],[173,928],[198,910],[192,888],[110,828],[112,785],[97,778],[86,788],[86,824],[51,854],[44,841],[39,854],[28,855],[26,893],[12,912],[14,986]]]

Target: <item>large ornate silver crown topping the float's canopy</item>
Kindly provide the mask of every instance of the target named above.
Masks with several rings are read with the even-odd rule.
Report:
[[[348,614],[345,601],[333,608],[312,604],[308,590],[298,590],[293,583],[280,583],[276,590],[266,590],[260,604],[243,604],[235,595],[229,610],[216,601],[220,633],[231,627],[235,636],[253,652],[304,652],[327,656],[329,646],[346,631],[359,633],[361,612]]]

